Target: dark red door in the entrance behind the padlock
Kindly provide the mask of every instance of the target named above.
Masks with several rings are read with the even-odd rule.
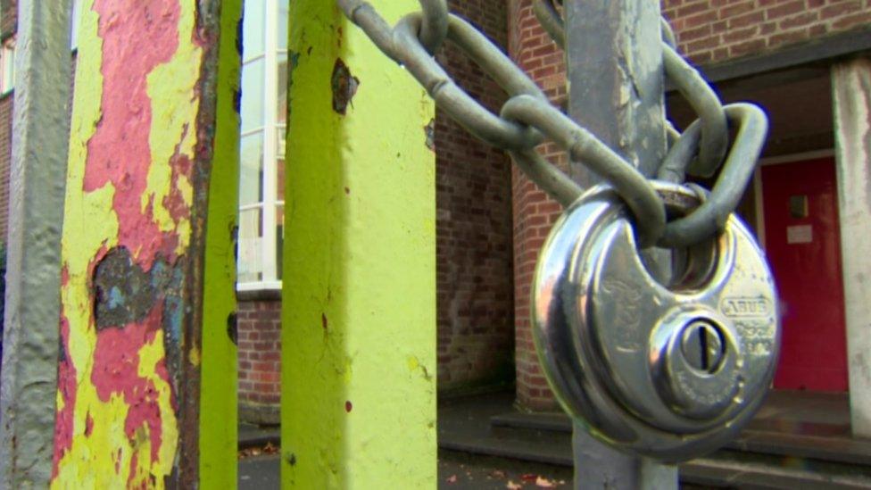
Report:
[[[834,159],[762,168],[765,247],[783,311],[775,387],[847,391]]]

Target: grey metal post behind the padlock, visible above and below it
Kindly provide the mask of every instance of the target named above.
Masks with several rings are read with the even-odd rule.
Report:
[[[666,152],[659,2],[566,0],[569,115],[651,175]],[[581,162],[572,178],[599,181]],[[577,488],[668,489],[677,469],[626,456],[576,425]]]

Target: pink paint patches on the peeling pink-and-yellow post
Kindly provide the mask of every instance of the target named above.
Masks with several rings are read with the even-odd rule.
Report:
[[[159,256],[168,258],[170,263],[177,259],[178,236],[159,228],[153,216],[154,203],[148,203],[143,211],[142,196],[152,165],[149,135],[153,113],[147,78],[157,66],[169,62],[178,50],[180,5],[178,0],[95,0],[93,10],[100,16],[98,34],[103,40],[101,71],[104,87],[102,119],[87,143],[83,191],[89,193],[112,184],[115,188],[112,208],[119,223],[118,245],[127,247],[133,253],[134,261],[147,271]],[[192,163],[187,157],[177,154],[170,166],[170,195],[162,204],[178,222],[187,218],[190,210],[176,184],[181,175],[189,179]],[[105,253],[101,250],[92,259],[89,277],[93,277],[95,264]],[[67,282],[69,274],[64,272],[62,284]],[[162,443],[159,394],[153,382],[139,376],[138,353],[143,346],[154,341],[157,331],[162,328],[162,313],[162,301],[158,301],[144,320],[98,332],[91,375],[91,382],[102,401],[109,401],[113,394],[121,394],[129,404],[125,433],[131,444],[136,439],[137,429],[148,429],[152,461],[158,460]],[[69,321],[62,315],[64,349],[69,345],[69,328]],[[154,368],[160,378],[169,382],[170,373],[165,361],[160,361]],[[60,365],[59,389],[65,404],[58,413],[55,429],[55,476],[57,465],[63,454],[70,450],[74,436],[76,370],[69,357]],[[175,399],[174,394],[172,398]],[[90,414],[88,420],[86,436],[93,430]],[[131,481],[135,478],[136,467],[134,458],[130,466]]]

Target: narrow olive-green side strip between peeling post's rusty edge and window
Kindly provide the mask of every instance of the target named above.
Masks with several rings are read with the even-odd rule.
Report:
[[[241,58],[236,26],[242,0],[221,0],[215,78],[215,137],[209,182],[203,270],[203,363],[200,387],[200,488],[235,488],[238,465],[236,399],[236,220],[239,187]],[[220,8],[220,12],[217,9]]]

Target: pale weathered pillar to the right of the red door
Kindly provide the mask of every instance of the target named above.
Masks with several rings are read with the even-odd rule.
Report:
[[[851,428],[871,437],[871,60],[834,65],[832,86]]]

